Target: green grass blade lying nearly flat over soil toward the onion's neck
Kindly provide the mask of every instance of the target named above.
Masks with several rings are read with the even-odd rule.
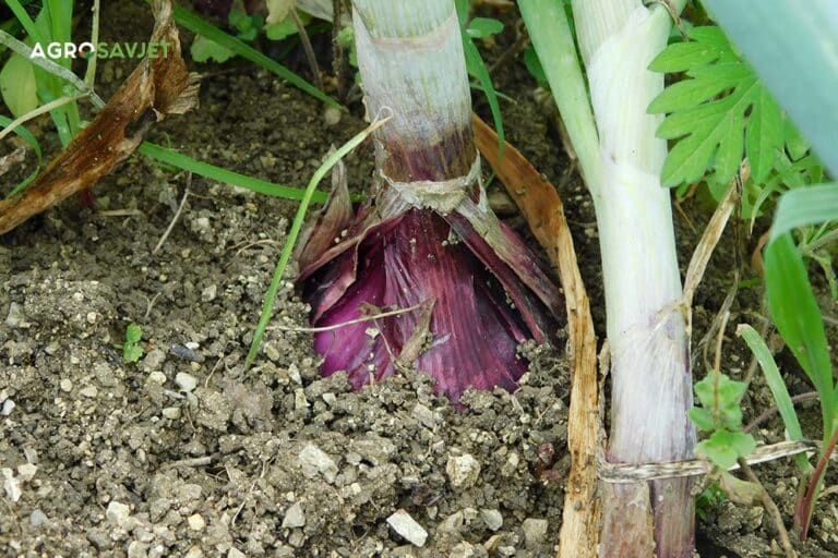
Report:
[[[240,186],[251,192],[259,194],[266,194],[274,197],[282,197],[285,199],[306,199],[306,191],[291,186],[285,186],[282,184],[275,184],[265,180],[254,179],[247,174],[240,174],[231,170],[210,165],[208,162],[199,161],[187,155],[180,154],[173,149],[169,149],[151,142],[143,142],[140,144],[137,151],[151,157],[158,161],[171,165],[181,170],[188,170],[199,177],[204,177],[210,180],[215,180],[225,184],[232,184]],[[328,196],[323,192],[312,192],[309,198],[310,202],[323,204]]]

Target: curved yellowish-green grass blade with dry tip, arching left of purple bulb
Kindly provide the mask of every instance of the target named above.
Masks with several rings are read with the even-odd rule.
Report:
[[[285,239],[285,245],[283,246],[283,252],[279,255],[279,262],[276,264],[274,277],[271,280],[271,286],[267,289],[267,293],[265,293],[265,302],[262,305],[262,314],[259,317],[259,324],[256,325],[256,330],[253,333],[253,341],[250,344],[248,359],[244,363],[246,367],[250,367],[259,354],[259,348],[262,344],[262,338],[265,335],[265,330],[267,329],[267,325],[271,322],[271,317],[274,311],[274,301],[276,300],[276,294],[279,292],[279,283],[283,280],[285,268],[287,267],[288,260],[290,259],[291,253],[294,252],[294,247],[297,244],[297,238],[300,235],[302,223],[306,220],[306,214],[309,209],[309,205],[311,204],[318,184],[320,184],[320,181],[323,180],[330,170],[332,170],[332,167],[337,165],[337,161],[346,157],[349,151],[358,147],[364,140],[367,140],[367,137],[370,136],[370,134],[384,125],[384,123],[386,123],[390,118],[391,117],[376,119],[369,126],[367,126],[367,129],[344,144],[338,150],[330,155],[323,165],[321,165],[320,168],[314,171],[314,174],[311,177],[309,185],[306,186],[302,203],[297,209],[297,215],[294,217],[291,229],[288,231],[288,236]]]

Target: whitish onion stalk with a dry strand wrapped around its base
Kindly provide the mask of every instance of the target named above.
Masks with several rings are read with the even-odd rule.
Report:
[[[561,4],[519,3],[597,214],[612,378],[607,459],[690,459],[690,340],[670,193],[660,182],[667,145],[656,137],[661,117],[646,110],[663,89],[648,65],[667,45],[670,14],[641,0],[574,0],[588,101]],[[599,555],[693,556],[690,493],[686,478],[606,485]]]

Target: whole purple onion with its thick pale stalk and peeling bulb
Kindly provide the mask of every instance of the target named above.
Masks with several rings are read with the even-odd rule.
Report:
[[[322,372],[358,388],[415,364],[454,400],[512,389],[517,345],[550,340],[561,296],[488,206],[454,1],[355,0],[352,21],[368,114],[392,118],[370,201],[355,210],[337,180],[300,252],[314,326],[351,322],[315,336]],[[358,322],[414,306],[429,310]]]

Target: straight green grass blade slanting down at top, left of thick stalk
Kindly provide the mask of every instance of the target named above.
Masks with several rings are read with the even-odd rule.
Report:
[[[224,33],[222,29],[207,23],[199,15],[177,4],[175,5],[175,21],[177,21],[180,25],[184,26],[192,33],[202,35],[208,38],[210,40],[213,40],[222,45],[228,50],[236,52],[241,58],[250,60],[254,64],[259,64],[265,70],[268,70],[275,73],[283,80],[300,88],[304,93],[308,93],[315,99],[319,99],[331,107],[335,107],[336,109],[340,109],[343,111],[347,110],[346,107],[340,105],[338,101],[336,101],[325,93],[321,92],[320,89],[314,87],[312,84],[310,84],[299,75],[295,74],[287,68],[285,68],[283,64],[266,57],[259,50],[255,50],[249,47],[247,44],[242,43],[236,37]]]

